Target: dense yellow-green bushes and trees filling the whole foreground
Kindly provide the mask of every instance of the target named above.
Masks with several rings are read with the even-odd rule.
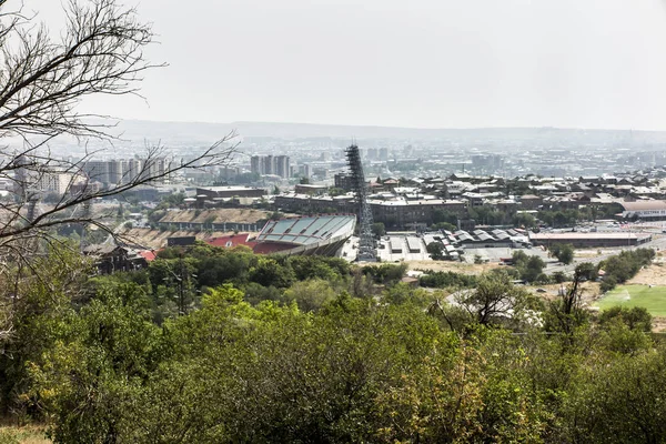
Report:
[[[157,262],[211,259],[193,256]],[[12,289],[0,407],[46,421],[57,443],[666,440],[666,350],[646,334],[650,317],[591,317],[577,293],[583,268],[546,303],[502,271],[452,300],[396,282],[387,265],[367,282],[335,261],[243,260],[228,281],[271,283],[284,299],[252,304],[229,282],[198,282],[199,306],[157,322],[151,292],[165,273],[91,283],[75,255],[70,266],[40,259],[49,282],[22,270]],[[363,282],[367,292],[354,295]]]

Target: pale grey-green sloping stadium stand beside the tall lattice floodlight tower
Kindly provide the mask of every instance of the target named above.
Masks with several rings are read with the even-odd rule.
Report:
[[[256,236],[259,254],[333,256],[352,236],[355,214],[334,214],[269,221]]]

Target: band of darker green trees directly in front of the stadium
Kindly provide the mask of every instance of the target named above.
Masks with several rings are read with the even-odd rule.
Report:
[[[222,284],[242,290],[245,301],[255,305],[262,301],[290,302],[294,292],[287,290],[295,286],[305,291],[316,286],[317,281],[326,282],[334,292],[357,295],[370,292],[373,283],[395,283],[404,272],[405,265],[400,264],[359,269],[339,258],[264,256],[242,246],[196,244],[161,251],[147,270],[117,273],[112,279],[94,278],[87,283],[87,292],[92,296],[110,281],[134,283],[147,295],[152,320],[160,324],[170,316],[196,310],[202,295]],[[320,301],[325,296],[331,296],[331,292],[323,292]]]

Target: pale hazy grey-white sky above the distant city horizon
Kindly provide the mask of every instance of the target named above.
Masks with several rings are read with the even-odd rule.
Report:
[[[27,2],[44,19],[57,3]],[[208,122],[666,130],[666,0],[138,7],[160,34],[150,58],[170,65],[148,74],[148,104],[95,100],[92,110]]]

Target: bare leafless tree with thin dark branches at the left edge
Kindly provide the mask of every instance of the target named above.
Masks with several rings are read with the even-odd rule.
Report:
[[[115,186],[101,189],[83,172],[97,151],[75,161],[57,160],[49,149],[54,138],[75,137],[81,143],[88,138],[113,139],[108,115],[77,111],[84,98],[139,94],[143,74],[163,65],[145,60],[143,51],[154,34],[134,9],[117,0],[65,0],[63,8],[64,30],[53,34],[20,1],[0,0],[0,180],[12,182],[14,190],[0,201],[3,270],[18,262],[30,266],[40,245],[58,242],[58,225],[82,223],[111,231],[90,211],[80,210],[90,202],[183,170],[225,164],[235,149],[234,133],[188,160],[170,155],[160,144],[148,145],[133,171]],[[20,148],[9,140],[19,140]],[[65,190],[40,208],[40,184],[53,178]]]

